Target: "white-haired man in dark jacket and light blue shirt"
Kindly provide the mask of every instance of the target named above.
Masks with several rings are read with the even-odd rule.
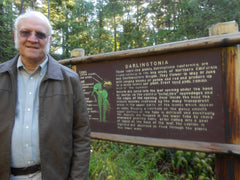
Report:
[[[15,21],[19,54],[0,65],[0,179],[87,179],[90,128],[77,73],[48,55],[40,12]]]

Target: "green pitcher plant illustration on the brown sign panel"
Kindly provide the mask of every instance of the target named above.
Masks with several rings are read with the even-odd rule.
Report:
[[[106,112],[107,108],[110,105],[108,101],[108,92],[106,89],[103,89],[101,83],[96,83],[93,86],[92,96],[96,93],[97,101],[98,101],[98,108],[99,108],[99,121],[106,122]]]

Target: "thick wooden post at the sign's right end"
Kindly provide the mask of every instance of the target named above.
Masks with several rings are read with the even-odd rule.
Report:
[[[238,32],[235,21],[219,23],[209,29],[210,35]],[[223,99],[226,143],[240,144],[240,56],[237,46],[222,50]],[[216,154],[217,180],[240,179],[240,156]]]

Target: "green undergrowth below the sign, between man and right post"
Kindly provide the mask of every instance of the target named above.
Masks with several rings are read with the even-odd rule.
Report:
[[[215,180],[214,154],[93,140],[89,180]]]

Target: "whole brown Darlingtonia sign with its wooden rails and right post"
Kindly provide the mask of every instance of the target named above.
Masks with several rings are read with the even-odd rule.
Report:
[[[60,63],[80,76],[92,138],[216,153],[216,179],[239,179],[239,43],[236,32]]]

